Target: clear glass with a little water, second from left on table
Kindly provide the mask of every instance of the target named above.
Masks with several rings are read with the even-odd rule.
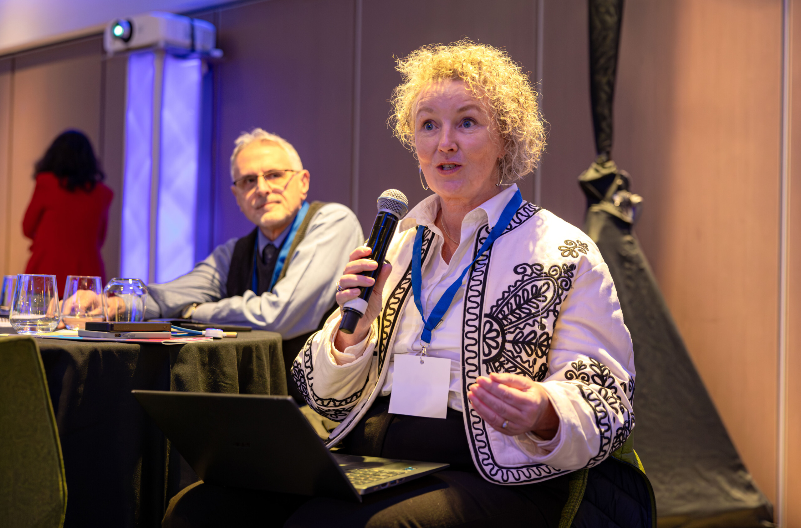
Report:
[[[17,276],[9,317],[17,333],[53,332],[61,316],[56,288],[54,275],[20,273]]]

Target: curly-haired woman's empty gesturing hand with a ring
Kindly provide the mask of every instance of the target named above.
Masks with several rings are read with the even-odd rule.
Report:
[[[539,383],[509,373],[491,373],[476,381],[467,397],[493,429],[510,437],[529,431],[545,440],[556,435],[559,417]]]

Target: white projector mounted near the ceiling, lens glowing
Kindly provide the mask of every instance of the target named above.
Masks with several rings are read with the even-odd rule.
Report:
[[[222,55],[215,49],[214,24],[199,18],[152,11],[109,22],[103,34],[107,54],[159,48],[176,54]]]

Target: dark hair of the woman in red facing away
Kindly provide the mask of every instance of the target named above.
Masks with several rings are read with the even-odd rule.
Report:
[[[61,180],[67,191],[84,189],[91,191],[95,184],[106,179],[95,158],[95,150],[89,138],[81,131],[62,132],[36,162],[36,174],[52,172]]]

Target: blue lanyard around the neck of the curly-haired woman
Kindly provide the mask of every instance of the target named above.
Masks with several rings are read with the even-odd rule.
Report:
[[[423,334],[421,336],[421,341],[424,343],[424,354],[425,349],[431,343],[431,331],[434,328],[437,328],[437,324],[440,324],[442,317],[445,316],[445,312],[448,310],[451,303],[453,303],[453,297],[456,296],[456,292],[459,288],[461,288],[461,283],[463,280],[465,280],[465,275],[467,275],[468,270],[473,267],[473,264],[476,264],[476,260],[481,258],[481,255],[483,255],[484,252],[489,249],[489,246],[493,244],[497,237],[501,236],[501,233],[506,230],[506,228],[509,226],[509,223],[512,221],[514,213],[517,212],[517,209],[520,208],[522,203],[523,197],[520,194],[520,189],[518,189],[517,192],[515,192],[512,196],[512,199],[509,200],[509,203],[506,204],[503,212],[501,212],[501,216],[498,218],[497,224],[495,224],[493,228],[489,230],[489,235],[484,241],[484,244],[481,245],[481,249],[478,250],[476,258],[474,258],[473,262],[468,264],[465,269],[462,270],[459,278],[454,280],[453,284],[451,284],[448,289],[445,290],[445,293],[442,294],[440,300],[437,301],[437,305],[434,306],[434,309],[429,314],[428,320],[425,319],[425,313],[423,313],[423,304],[420,301],[420,292],[423,284],[421,253],[423,252],[423,232],[425,232],[425,226],[417,226],[417,236],[414,237],[414,253],[412,255],[412,291],[414,292],[414,304],[417,304],[417,309],[420,311],[420,315],[425,321],[425,327],[423,328]]]

